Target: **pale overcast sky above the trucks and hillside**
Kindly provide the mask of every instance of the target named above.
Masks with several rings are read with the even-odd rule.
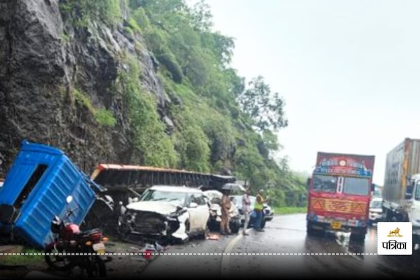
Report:
[[[232,66],[286,100],[278,134],[294,170],[317,151],[386,154],[420,138],[420,1],[207,0],[214,29],[235,38]]]

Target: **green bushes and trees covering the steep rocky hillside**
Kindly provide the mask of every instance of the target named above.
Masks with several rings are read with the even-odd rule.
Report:
[[[119,54],[115,85],[127,108],[134,153],[142,164],[216,173],[228,169],[246,180],[253,192],[265,188],[273,206],[304,205],[305,178],[289,169],[287,159],[276,156],[279,131],[288,125],[285,101],[271,92],[263,77],[247,83],[231,67],[234,40],[213,31],[207,4],[99,2],[62,1],[60,9],[74,15],[76,28],[102,21],[132,42],[138,57]],[[128,18],[122,20],[126,9]],[[139,60],[147,52],[158,61],[157,77],[171,100],[160,108],[173,122],[170,132],[158,113],[156,96],[142,85]],[[98,122],[115,125],[109,111],[94,109],[83,93],[75,91],[74,96]]]

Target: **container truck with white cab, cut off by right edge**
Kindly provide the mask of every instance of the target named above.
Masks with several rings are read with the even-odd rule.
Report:
[[[412,222],[420,243],[420,139],[405,138],[387,154],[383,184],[384,220]]]

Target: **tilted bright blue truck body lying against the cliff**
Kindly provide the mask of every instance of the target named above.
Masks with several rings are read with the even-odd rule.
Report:
[[[21,150],[0,188],[0,229],[38,248],[53,240],[54,216],[80,225],[101,188],[59,149],[22,141]],[[66,197],[73,196],[70,204]]]

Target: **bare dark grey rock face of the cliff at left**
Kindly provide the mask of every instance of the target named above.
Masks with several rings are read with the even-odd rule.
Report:
[[[0,177],[23,138],[62,149],[86,172],[98,162],[141,163],[133,152],[127,104],[116,86],[126,68],[123,53],[143,64],[138,78],[156,95],[171,129],[165,115],[170,100],[147,49],[134,46],[123,24],[75,27],[69,24],[72,16],[60,12],[58,0],[0,0]],[[116,125],[100,125],[77,101],[76,89],[88,95],[93,108],[112,112]]]

